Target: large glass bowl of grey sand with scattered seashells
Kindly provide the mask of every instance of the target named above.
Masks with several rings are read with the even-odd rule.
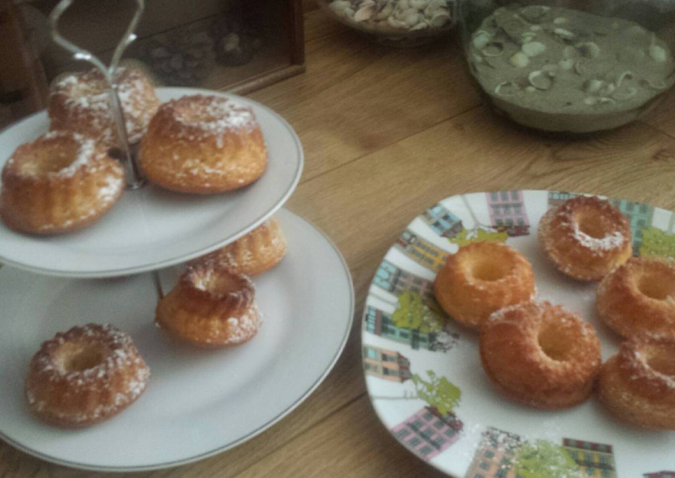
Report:
[[[675,84],[673,0],[461,0],[456,15],[475,83],[526,127],[613,129]]]

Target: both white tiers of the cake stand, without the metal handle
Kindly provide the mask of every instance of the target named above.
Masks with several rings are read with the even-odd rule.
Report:
[[[16,448],[101,471],[181,465],[279,421],[340,356],[354,311],[349,270],[325,235],[281,209],[302,173],[300,140],[258,102],[157,88],[162,101],[197,93],[221,94],[253,109],[269,152],[268,169],[256,183],[213,196],[130,187],[99,222],[65,235],[22,235],[0,224],[0,438]],[[0,169],[17,146],[48,128],[42,111],[0,132]],[[238,239],[273,214],[288,253],[254,278],[264,321],[257,336],[238,347],[201,350],[155,327],[157,300],[175,285],[183,262]],[[148,389],[132,407],[92,427],[42,423],[24,397],[30,357],[56,332],[89,322],[113,324],[132,336],[151,368]]]

